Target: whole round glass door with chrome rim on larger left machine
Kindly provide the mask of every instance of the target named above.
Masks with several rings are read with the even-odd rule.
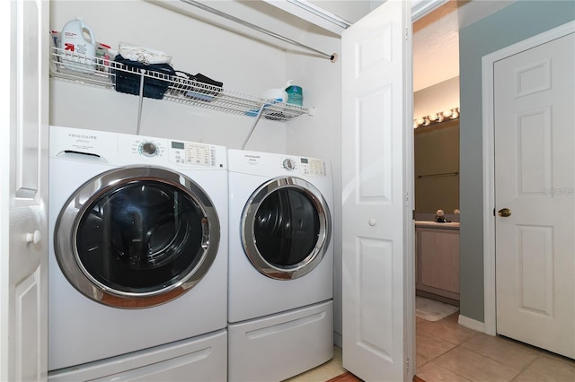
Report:
[[[75,191],[54,230],[57,262],[86,297],[149,308],[190,291],[217,256],[208,195],[169,169],[125,167]]]

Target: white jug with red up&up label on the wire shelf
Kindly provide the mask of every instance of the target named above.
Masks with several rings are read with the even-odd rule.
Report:
[[[59,53],[66,69],[84,73],[96,70],[96,39],[92,28],[79,17],[66,22],[58,48],[62,49]]]

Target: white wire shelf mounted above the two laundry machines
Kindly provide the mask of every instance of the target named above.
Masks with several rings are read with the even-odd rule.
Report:
[[[275,100],[229,91],[207,83],[190,80],[178,75],[162,74],[151,70],[120,64],[109,58],[86,57],[75,52],[52,47],[50,51],[50,76],[59,80],[75,82],[98,88],[119,90],[122,84],[132,81],[134,91],[139,95],[194,107],[212,109],[247,117],[261,117],[275,121],[288,121],[310,114],[310,109]],[[140,82],[143,82],[143,87]],[[150,95],[149,91],[152,91]],[[122,90],[126,92],[125,90]],[[148,94],[146,95],[146,92]]]

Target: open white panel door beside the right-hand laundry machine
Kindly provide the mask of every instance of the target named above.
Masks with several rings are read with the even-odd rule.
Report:
[[[389,0],[342,35],[343,367],[411,380],[410,2]]]

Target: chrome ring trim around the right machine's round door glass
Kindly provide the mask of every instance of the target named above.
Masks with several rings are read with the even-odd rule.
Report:
[[[263,200],[268,195],[281,188],[296,188],[310,197],[314,204],[315,211],[319,216],[320,231],[314,250],[308,254],[308,256],[305,256],[304,260],[296,265],[279,268],[276,265],[270,264],[263,256],[261,256],[255,242],[253,223],[255,220],[255,214],[258,212]],[[310,273],[322,262],[323,256],[330,245],[330,238],[332,235],[332,215],[322,193],[314,187],[313,184],[302,178],[273,178],[258,187],[243,207],[241,231],[243,250],[252,265],[260,273],[276,280],[291,280]]]

